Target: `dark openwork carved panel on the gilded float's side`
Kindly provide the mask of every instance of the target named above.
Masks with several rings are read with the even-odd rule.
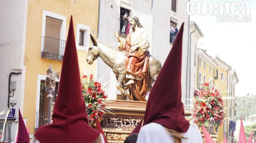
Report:
[[[133,130],[141,121],[140,118],[105,117],[103,127]]]

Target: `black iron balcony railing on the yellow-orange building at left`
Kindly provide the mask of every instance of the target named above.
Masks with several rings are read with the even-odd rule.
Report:
[[[47,36],[43,36],[43,40],[44,49],[41,52],[41,57],[54,60],[63,60],[66,41]]]

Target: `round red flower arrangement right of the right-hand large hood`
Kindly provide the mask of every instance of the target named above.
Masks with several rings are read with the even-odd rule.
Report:
[[[201,84],[200,90],[197,90],[196,94],[197,96],[193,100],[192,120],[200,127],[206,123],[209,128],[215,127],[217,130],[225,118],[220,92],[210,82],[210,84]]]

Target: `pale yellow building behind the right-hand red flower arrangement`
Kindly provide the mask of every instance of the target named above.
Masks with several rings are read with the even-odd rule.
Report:
[[[214,87],[221,92],[221,95],[228,96],[228,71],[231,70],[231,67],[218,57],[213,59],[203,49],[198,49],[197,63],[197,81],[195,83],[197,89],[201,83],[209,83],[212,80]],[[225,108],[228,106],[227,100],[224,100],[224,105]],[[225,113],[227,113],[227,109],[225,109]],[[217,143],[223,142],[224,132],[227,135],[228,130],[229,120],[225,119],[224,124],[218,128],[218,132],[214,130],[218,135]]]

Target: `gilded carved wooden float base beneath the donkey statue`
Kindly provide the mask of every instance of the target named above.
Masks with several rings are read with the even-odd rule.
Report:
[[[105,132],[108,143],[123,143],[144,117],[147,102],[108,100],[105,103],[115,115],[109,112],[105,114],[102,130]],[[185,116],[190,115],[191,112],[185,111]]]

